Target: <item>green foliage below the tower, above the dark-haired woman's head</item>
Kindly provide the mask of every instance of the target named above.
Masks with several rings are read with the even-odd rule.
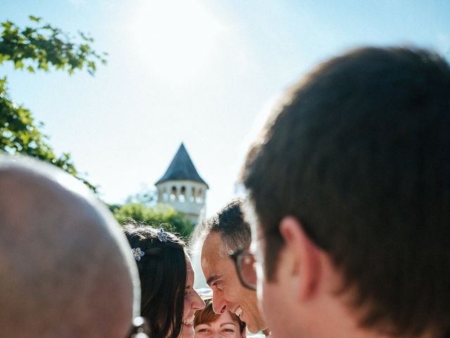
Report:
[[[188,239],[193,232],[193,224],[185,215],[167,205],[158,204],[155,208],[138,203],[110,206],[117,222],[126,224],[129,218],[137,223],[146,223],[153,227],[165,227],[166,230],[180,234]]]

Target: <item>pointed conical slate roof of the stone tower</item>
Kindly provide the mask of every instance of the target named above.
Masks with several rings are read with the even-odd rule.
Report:
[[[198,175],[197,170],[192,163],[191,157],[189,157],[188,151],[186,151],[183,143],[181,143],[178,151],[176,151],[176,154],[170,163],[169,168],[167,168],[166,173],[162,175],[160,180],[158,180],[155,184],[172,180],[190,180],[200,182],[206,184],[206,187],[209,189],[208,184],[202,177],[200,177],[200,175]]]

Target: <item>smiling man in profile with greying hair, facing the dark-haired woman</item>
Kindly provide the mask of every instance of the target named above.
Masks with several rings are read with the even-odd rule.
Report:
[[[269,334],[256,296],[253,256],[248,253],[251,232],[235,199],[203,223],[199,240],[203,242],[201,265],[212,289],[214,312],[236,313],[250,332]]]

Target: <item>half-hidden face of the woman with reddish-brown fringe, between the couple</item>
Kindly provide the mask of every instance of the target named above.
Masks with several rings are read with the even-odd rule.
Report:
[[[229,311],[219,315],[212,323],[203,323],[195,327],[195,338],[245,338],[245,331],[241,334],[239,323],[231,318]]]

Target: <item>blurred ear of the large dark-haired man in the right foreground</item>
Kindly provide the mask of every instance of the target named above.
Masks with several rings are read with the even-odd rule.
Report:
[[[298,300],[310,299],[316,294],[321,278],[319,248],[304,232],[302,223],[292,216],[281,220],[280,233],[284,239],[284,258],[292,260],[288,265],[290,284]],[[290,268],[289,268],[290,267]]]

